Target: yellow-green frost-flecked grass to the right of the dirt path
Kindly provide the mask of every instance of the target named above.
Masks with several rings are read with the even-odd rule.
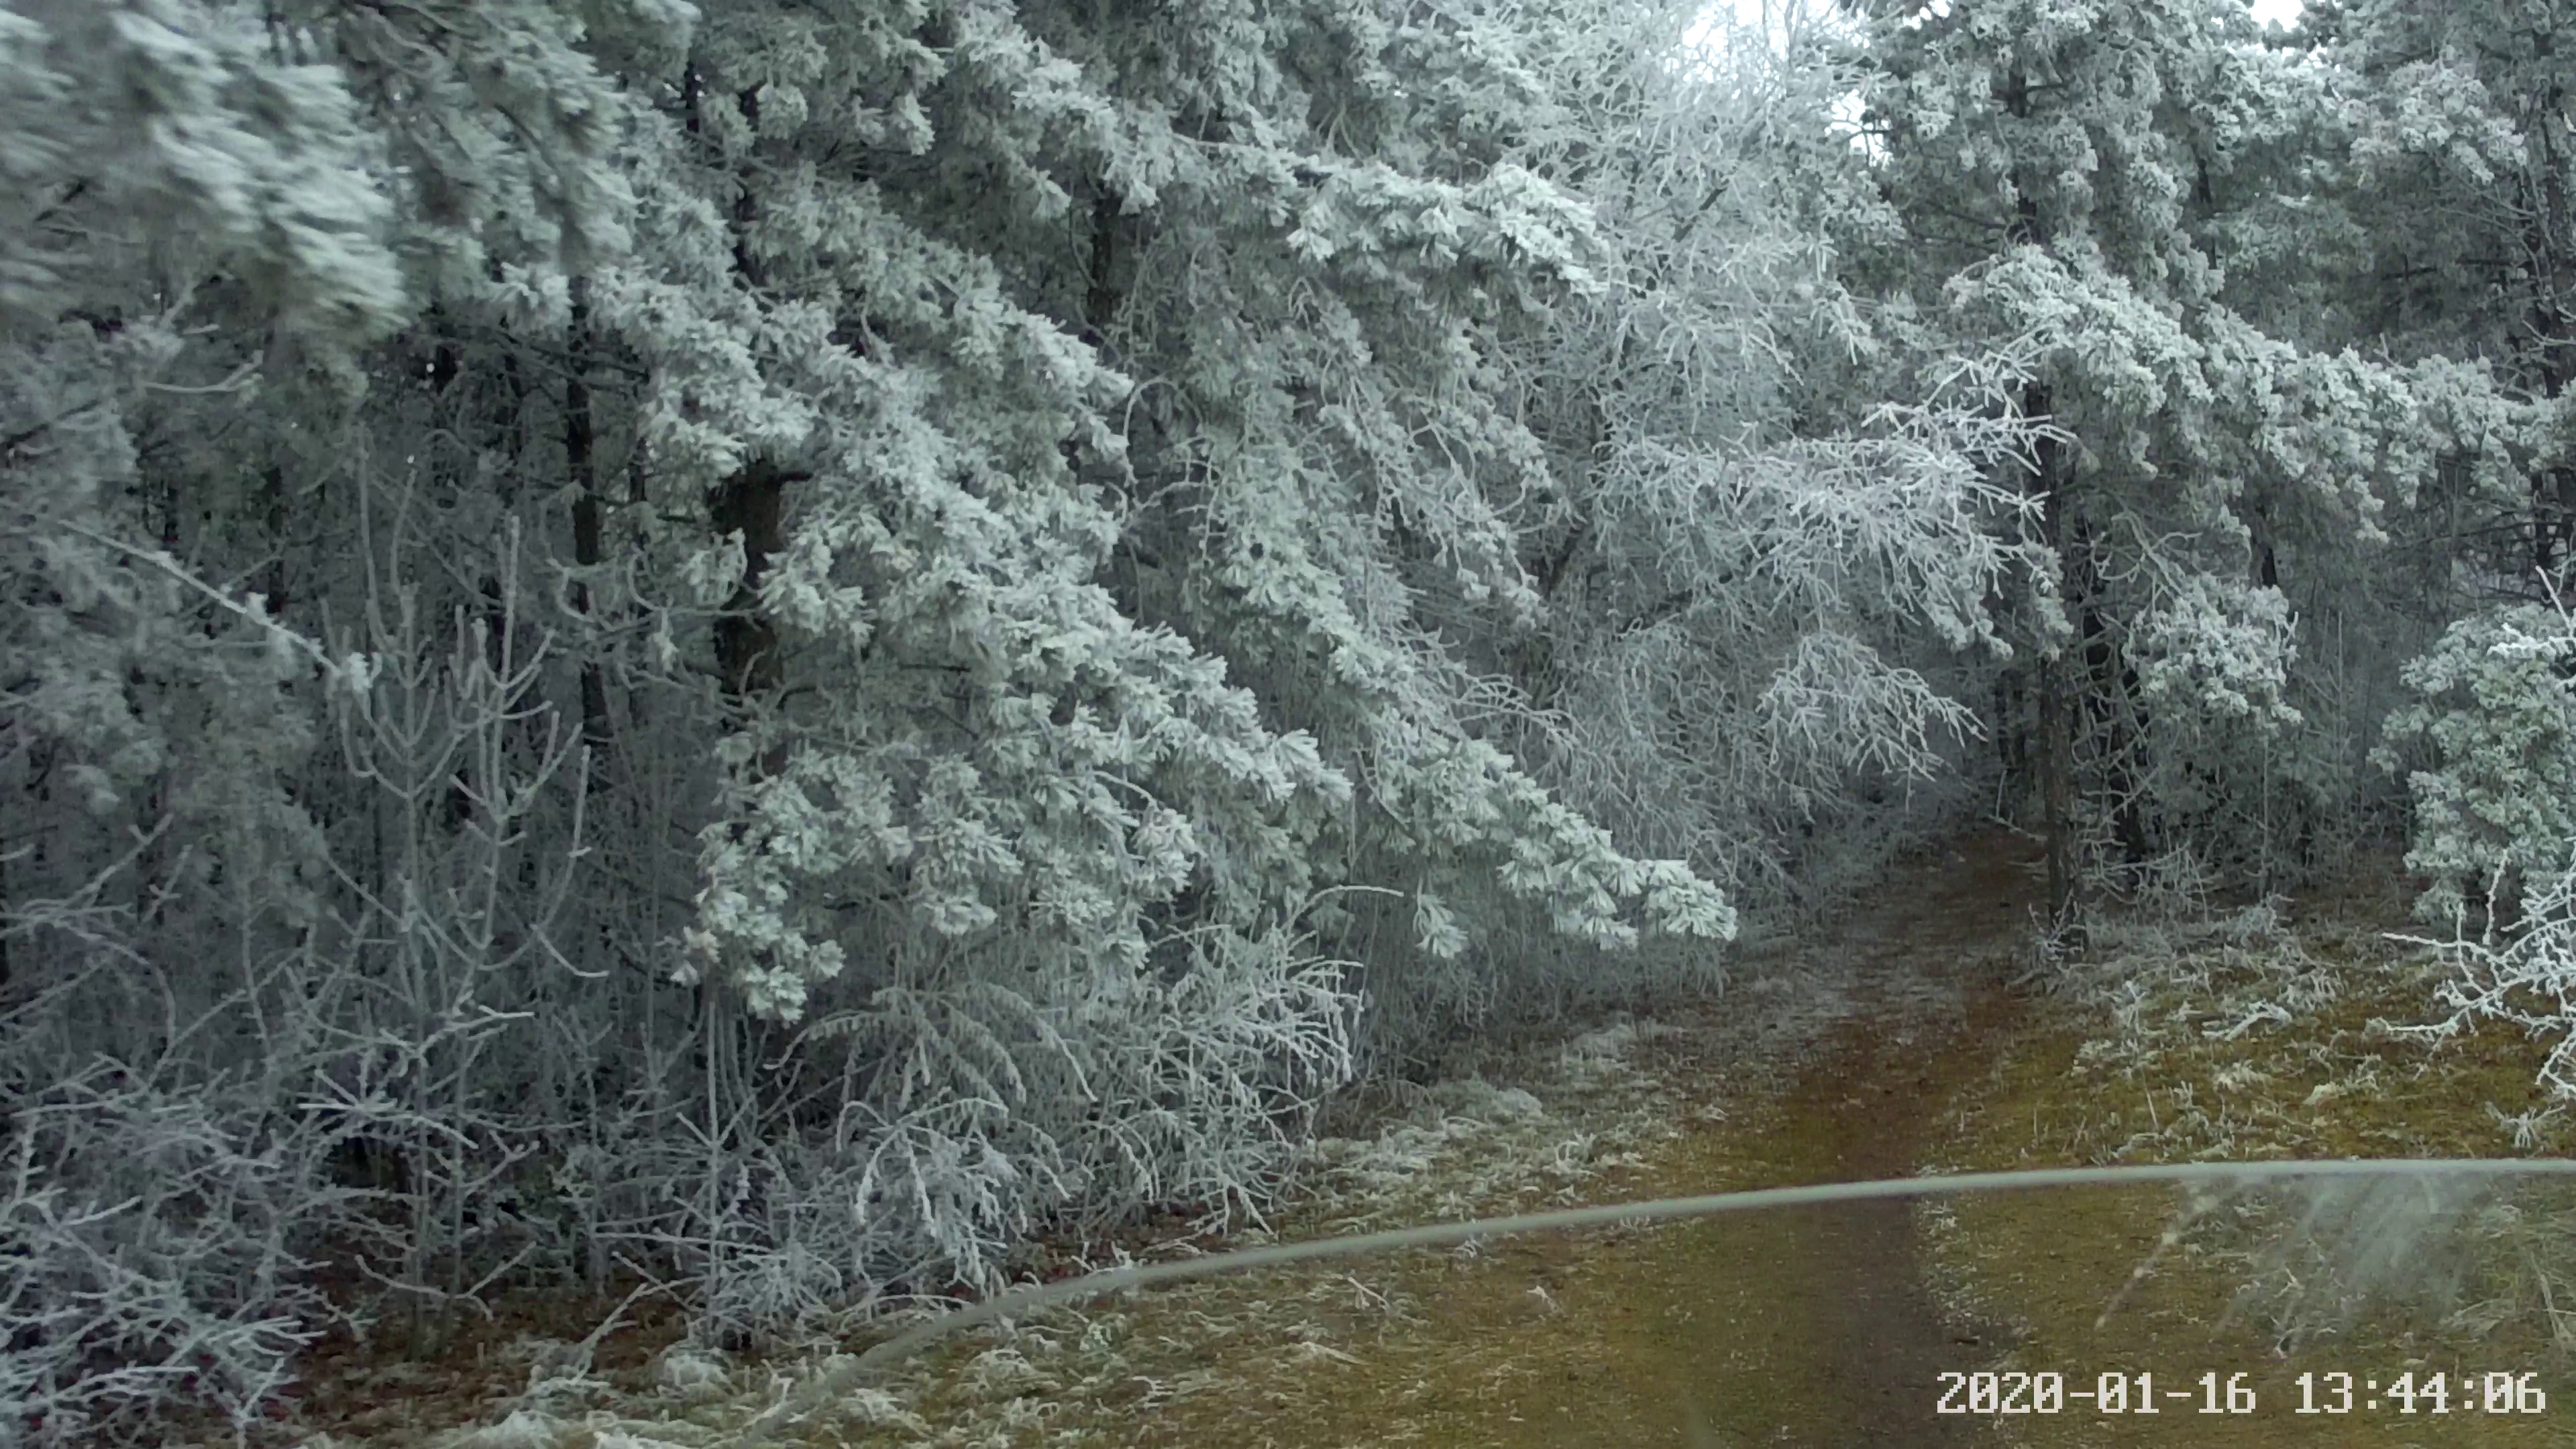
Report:
[[[2398,890],[2316,900],[2308,928],[2112,933],[1950,1104],[1935,1165],[2548,1150],[2537,1044],[2486,1029],[2434,1049],[2388,1031],[2424,1018],[2437,969],[2380,936],[2406,928]],[[1999,1421],[2009,1444],[2269,1449],[2576,1444],[2576,1379],[2543,1274],[2566,1263],[2566,1194],[2543,1189],[2197,1204],[2061,1191],[1924,1217],[1945,1297],[2012,1328],[1999,1369],[2061,1372],[2079,1390],[2105,1372],[2154,1374],[2159,1392],[2187,1395],[2154,1418],[2084,1403],[2012,1415]],[[2524,1372],[2553,1410],[2483,1413],[2486,1374]],[[2251,1410],[2200,1413],[2202,1374],[2221,1392],[2241,1374]],[[2326,1413],[2342,1374],[2352,1410]],[[2432,1397],[2406,1413],[2403,1374],[2416,1387],[2445,1374],[2452,1413],[2432,1413]],[[2463,1374],[2476,1408],[2460,1403]]]

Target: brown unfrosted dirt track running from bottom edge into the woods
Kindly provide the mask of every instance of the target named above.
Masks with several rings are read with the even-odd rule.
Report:
[[[1739,985],[1713,1021],[1667,1021],[1641,1055],[1672,1101],[1667,1142],[1592,1201],[1909,1176],[1958,1093],[2022,1016],[2002,980],[2027,926],[2027,843],[1963,841],[1904,866],[1880,902]],[[1770,998],[1834,1024],[1731,1055],[1723,1016]],[[1303,1364],[1226,1356],[1206,1392],[1154,1405],[1144,1444],[1971,1449],[1940,1374],[2007,1351],[1924,1281],[1909,1204],[1546,1235],[1363,1266],[1399,1310]],[[1270,1289],[1291,1297],[1293,1289]]]

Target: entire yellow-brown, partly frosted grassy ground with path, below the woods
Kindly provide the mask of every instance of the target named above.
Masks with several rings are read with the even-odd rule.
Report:
[[[1726,1000],[1499,1052],[1324,1145],[1273,1230],[1739,1186],[2076,1163],[2545,1152],[2540,1049],[2427,1049],[2403,882],[2202,926],[2128,923],[2053,990],[2027,967],[2027,848],[1909,866],[1834,938],[1749,962]],[[2519,1127],[2517,1127],[2519,1124]],[[2434,1212],[2437,1209],[2437,1212]],[[1481,1243],[1182,1284],[969,1336],[788,1434],[809,1446],[1149,1444],[2576,1444],[2576,1377],[2540,1271],[2576,1261],[2558,1204],[2375,1194],[2177,1204],[2172,1191],[1991,1194]],[[1185,1245],[1167,1245],[1188,1250]],[[2370,1289],[2370,1292],[2365,1292]],[[2450,1289],[2447,1294],[2442,1289]],[[855,1348],[866,1336],[853,1336]],[[526,1343],[492,1356],[528,1356]],[[518,1359],[510,1359],[513,1364]],[[482,1395],[474,1431],[399,1408],[371,1449],[714,1449],[796,1361],[667,1354]],[[2159,1415],[1937,1415],[1940,1374],[2154,1374]],[[2537,1372],[2540,1415],[2403,1415],[2398,1374]],[[2202,1374],[2251,1413],[2200,1415]],[[2241,1379],[2236,1379],[2241,1374]],[[2300,1415],[2349,1374],[2354,1413]],[[2380,1405],[2367,1400],[2372,1379]],[[453,1395],[451,1395],[453,1397]],[[2563,1408],[2555,1408],[2563,1400]],[[2429,1400],[2419,1400],[2429,1408]],[[448,1415],[446,1423],[453,1423]]]

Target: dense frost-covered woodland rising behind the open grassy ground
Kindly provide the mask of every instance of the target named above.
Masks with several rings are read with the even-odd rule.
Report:
[[[2553,0],[8,0],[0,1436],[1239,1222],[1981,815],[2545,1026],[2571,379]]]

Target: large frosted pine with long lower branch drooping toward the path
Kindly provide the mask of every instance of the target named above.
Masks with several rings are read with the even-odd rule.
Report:
[[[1525,593],[1492,495],[1533,449],[1476,351],[1589,245],[1409,113],[1425,67],[1494,70],[1342,8],[920,8],[866,41],[734,8],[662,98],[693,304],[752,340],[739,397],[644,423],[649,487],[706,498],[677,575],[719,611],[683,972],[809,1016],[855,1083],[863,1240],[925,1253],[871,1274],[1255,1194],[1360,1003],[1404,995],[1332,962],[1376,913],[1347,887],[1435,949],[1443,874],[1587,944],[1728,928],[1461,719],[1414,616],[1425,578]],[[616,335],[634,304],[592,297]]]

